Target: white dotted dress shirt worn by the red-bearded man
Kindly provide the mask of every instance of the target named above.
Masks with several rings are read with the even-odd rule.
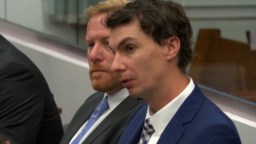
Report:
[[[105,98],[106,96],[108,96],[107,93],[104,94]],[[95,128],[109,115],[109,113],[111,113],[127,96],[129,96],[129,92],[126,88],[117,91],[116,93],[113,93],[111,95],[108,96],[108,104],[109,104],[109,109],[107,109],[100,117],[99,119],[95,122],[95,124],[90,128],[90,130],[84,135],[84,137],[81,139],[81,141],[79,142],[79,144],[81,144],[87,137],[88,135],[90,135],[92,133],[92,131],[95,130]],[[71,144],[75,138],[77,137],[77,135],[79,135],[81,133],[81,131],[83,130],[83,128],[85,127],[85,125],[87,124],[88,120],[82,125],[82,127],[76,132],[76,134],[74,135],[74,137],[71,139],[71,141],[69,142],[69,144]]]

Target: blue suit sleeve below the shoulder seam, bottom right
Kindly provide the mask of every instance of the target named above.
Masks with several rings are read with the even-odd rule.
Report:
[[[228,124],[213,124],[198,133],[193,144],[242,144],[237,130]]]

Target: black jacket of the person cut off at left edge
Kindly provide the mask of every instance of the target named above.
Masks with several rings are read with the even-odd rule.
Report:
[[[34,63],[0,35],[0,137],[11,144],[58,144],[60,115]]]

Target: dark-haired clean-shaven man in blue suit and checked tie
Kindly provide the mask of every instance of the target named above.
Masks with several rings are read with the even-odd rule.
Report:
[[[111,71],[131,97],[148,103],[133,114],[119,144],[241,144],[231,119],[185,75],[194,54],[180,4],[135,0],[106,25],[115,53]]]

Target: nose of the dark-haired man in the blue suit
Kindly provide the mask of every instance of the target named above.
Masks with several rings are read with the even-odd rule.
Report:
[[[119,55],[115,55],[114,61],[111,65],[110,71],[115,73],[120,73],[126,71],[125,63],[123,63],[124,59],[122,59]]]

